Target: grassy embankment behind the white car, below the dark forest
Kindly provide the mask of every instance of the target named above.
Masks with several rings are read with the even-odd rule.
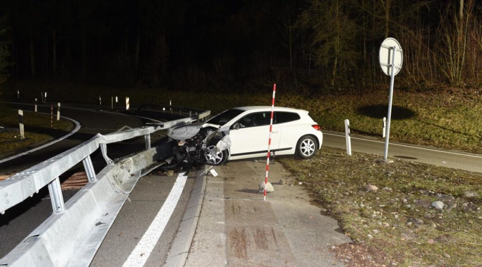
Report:
[[[275,105],[305,109],[321,125],[322,130],[344,132],[344,120],[350,119],[351,132],[382,138],[386,117],[388,90],[368,89],[363,93],[284,87],[277,84]],[[211,110],[217,114],[245,105],[270,105],[272,87],[259,86],[250,92],[198,92],[194,89],[113,88],[72,83],[7,82],[0,85],[3,97],[20,91],[21,99],[39,98],[48,92],[49,101],[69,101],[110,106],[112,96],[122,105],[129,96],[132,106],[142,103],[189,106]],[[415,92],[395,88],[390,140],[438,148],[482,153],[482,88],[432,88]]]

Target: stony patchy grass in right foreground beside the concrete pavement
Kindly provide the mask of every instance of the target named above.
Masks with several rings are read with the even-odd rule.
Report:
[[[280,161],[355,241],[334,249],[353,266],[480,266],[482,174],[379,158],[323,147],[310,160]],[[438,200],[442,211],[430,206]]]

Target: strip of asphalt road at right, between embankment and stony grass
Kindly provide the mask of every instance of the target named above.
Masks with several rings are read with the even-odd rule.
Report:
[[[352,136],[352,150],[381,155],[383,158],[385,142]],[[346,149],[345,135],[323,133],[323,146]],[[438,150],[407,144],[390,143],[388,157],[402,158],[468,171],[482,172],[482,155],[457,151]]]

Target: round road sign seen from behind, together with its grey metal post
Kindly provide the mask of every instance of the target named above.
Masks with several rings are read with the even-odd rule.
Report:
[[[394,38],[386,38],[380,46],[380,67],[390,76],[390,92],[388,95],[388,115],[386,120],[385,150],[383,158],[388,157],[388,140],[390,138],[390,120],[392,116],[393,83],[395,75],[402,69],[403,50],[399,42]]]

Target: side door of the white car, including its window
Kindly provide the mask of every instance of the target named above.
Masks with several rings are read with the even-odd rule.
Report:
[[[230,129],[231,157],[247,158],[266,155],[270,131],[271,111],[254,112],[241,117],[239,129]],[[273,125],[271,134],[271,150],[277,150],[280,140],[280,131]]]

